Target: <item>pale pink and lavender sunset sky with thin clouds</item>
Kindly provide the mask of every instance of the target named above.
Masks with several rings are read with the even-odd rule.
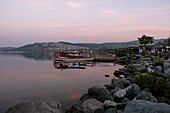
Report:
[[[170,0],[0,0],[0,47],[170,37]]]

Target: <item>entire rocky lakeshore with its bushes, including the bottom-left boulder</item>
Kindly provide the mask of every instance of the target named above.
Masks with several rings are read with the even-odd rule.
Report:
[[[110,84],[93,86],[66,113],[170,113],[170,63],[127,56]],[[63,113],[57,101],[22,102],[6,113]]]

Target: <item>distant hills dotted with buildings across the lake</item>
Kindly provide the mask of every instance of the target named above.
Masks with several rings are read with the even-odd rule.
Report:
[[[154,43],[164,42],[167,39],[158,39],[154,40]],[[18,48],[6,48],[6,50],[12,49],[15,51],[60,51],[60,50],[80,50],[80,49],[89,49],[89,48],[119,48],[119,47],[130,47],[138,46],[139,41],[129,41],[129,42],[108,42],[108,43],[70,43],[70,42],[42,42],[28,44]],[[3,48],[4,50],[5,48]]]

